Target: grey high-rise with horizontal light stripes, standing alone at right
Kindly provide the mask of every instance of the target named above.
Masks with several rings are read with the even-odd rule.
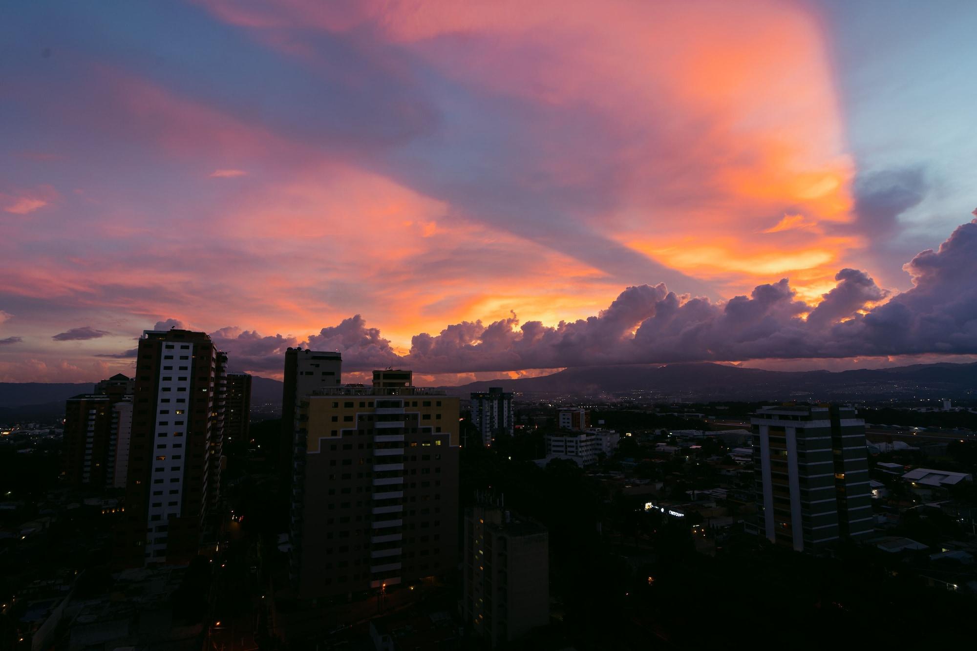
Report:
[[[871,534],[865,421],[843,407],[753,414],[759,530],[797,551]]]

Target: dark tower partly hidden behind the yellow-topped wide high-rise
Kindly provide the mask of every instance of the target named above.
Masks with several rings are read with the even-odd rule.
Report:
[[[285,484],[292,481],[297,403],[315,389],[339,386],[342,370],[343,356],[339,353],[301,348],[289,348],[285,351],[285,374],[281,388],[281,440],[278,451],[278,465]]]

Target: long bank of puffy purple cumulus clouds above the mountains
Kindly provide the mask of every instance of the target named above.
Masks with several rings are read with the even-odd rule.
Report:
[[[393,364],[425,373],[977,353],[977,219],[905,269],[913,288],[885,303],[888,292],[868,274],[843,269],[817,306],[797,300],[786,279],[725,302],[645,284],[574,322],[520,325],[513,314],[447,325],[415,335],[405,356],[359,315],[322,328],[307,345],[339,350],[351,369]]]

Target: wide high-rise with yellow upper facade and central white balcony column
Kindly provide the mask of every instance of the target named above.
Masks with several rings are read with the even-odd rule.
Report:
[[[290,574],[300,598],[443,575],[457,563],[458,399],[378,370],[299,400]]]

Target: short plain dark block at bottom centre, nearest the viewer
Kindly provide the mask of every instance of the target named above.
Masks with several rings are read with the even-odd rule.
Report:
[[[549,535],[499,508],[465,511],[462,608],[491,646],[549,623]]]

